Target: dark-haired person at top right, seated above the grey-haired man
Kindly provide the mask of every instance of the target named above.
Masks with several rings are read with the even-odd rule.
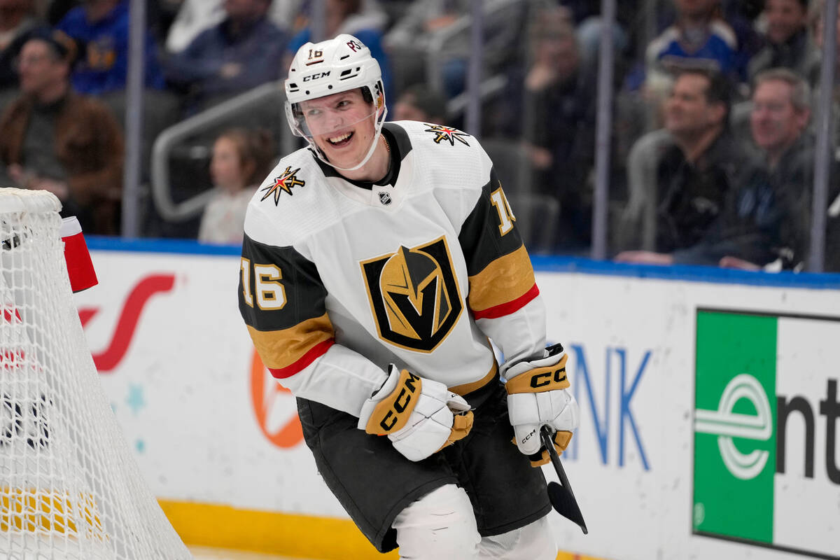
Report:
[[[770,68],[790,68],[808,77],[819,64],[819,52],[808,33],[808,0],[766,0],[764,20],[767,44],[749,61],[750,80]]]

